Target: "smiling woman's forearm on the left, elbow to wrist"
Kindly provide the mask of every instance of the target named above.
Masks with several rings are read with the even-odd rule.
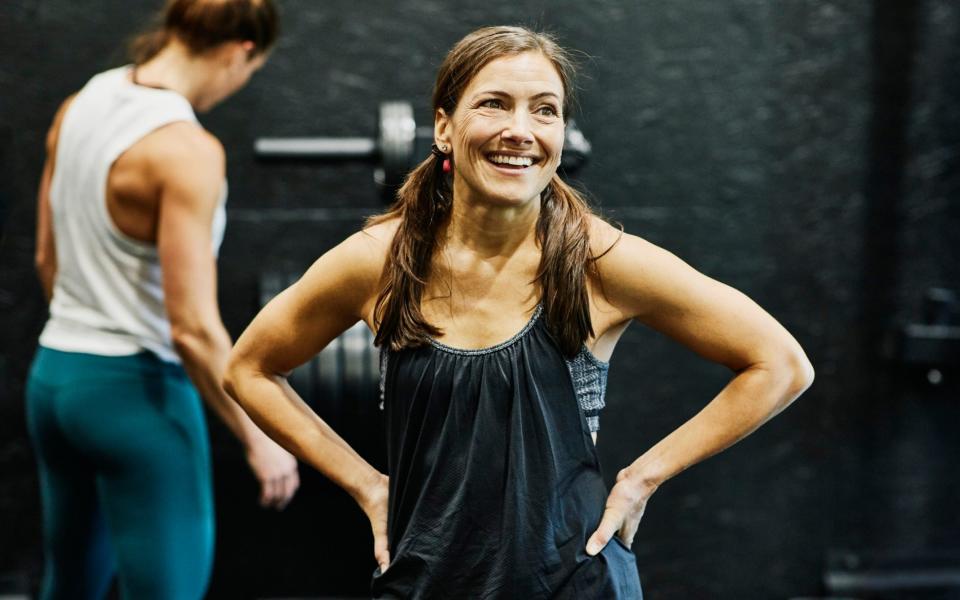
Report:
[[[278,444],[343,488],[364,507],[383,475],[314,413],[280,375],[231,364],[224,388]]]

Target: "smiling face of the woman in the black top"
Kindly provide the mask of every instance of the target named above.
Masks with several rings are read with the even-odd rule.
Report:
[[[452,115],[437,111],[439,146],[453,156],[457,199],[518,205],[539,198],[563,150],[563,83],[543,54],[489,62]]]

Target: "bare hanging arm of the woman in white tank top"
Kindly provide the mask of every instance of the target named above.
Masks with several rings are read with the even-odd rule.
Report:
[[[282,508],[299,485],[295,459],[221,387],[231,341],[217,306],[211,226],[224,179],[223,148],[188,123],[158,131],[152,143],[161,186],[157,250],[174,347],[200,395],[244,446],[261,503]]]

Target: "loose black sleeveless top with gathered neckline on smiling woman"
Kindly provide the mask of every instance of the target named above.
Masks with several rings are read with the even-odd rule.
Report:
[[[540,313],[491,348],[385,357],[392,562],[375,598],[642,598],[619,538],[586,553],[607,489]]]

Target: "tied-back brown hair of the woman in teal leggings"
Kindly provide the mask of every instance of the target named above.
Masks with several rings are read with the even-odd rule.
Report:
[[[273,0],[167,0],[154,21],[129,43],[128,53],[136,64],[156,56],[174,38],[195,55],[224,42],[250,41],[253,58],[273,47],[279,35]]]

